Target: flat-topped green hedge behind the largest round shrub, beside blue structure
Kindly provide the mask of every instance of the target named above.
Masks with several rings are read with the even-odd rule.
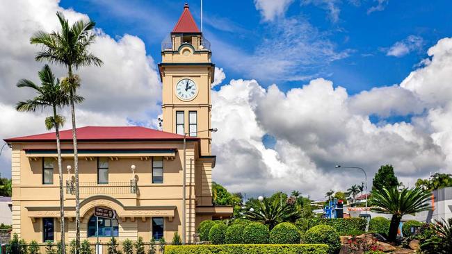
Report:
[[[366,230],[366,219],[344,218],[344,219],[309,219],[308,220],[308,228],[312,228],[317,225],[331,226],[339,233],[339,235],[355,235],[356,232]],[[300,228],[301,225],[299,225],[298,227]]]

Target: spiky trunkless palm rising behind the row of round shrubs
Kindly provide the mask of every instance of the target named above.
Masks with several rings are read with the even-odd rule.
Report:
[[[245,216],[250,221],[259,221],[268,225],[271,230],[277,223],[289,221],[297,214],[297,210],[293,205],[288,205],[286,202],[281,203],[279,198],[264,198],[264,201],[259,202],[259,207],[256,210],[245,212]],[[297,218],[298,219],[298,218]]]

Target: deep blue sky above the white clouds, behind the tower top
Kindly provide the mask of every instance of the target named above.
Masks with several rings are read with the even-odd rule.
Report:
[[[63,0],[60,6],[88,14],[112,37],[137,35],[158,62],[160,43],[177,22],[185,2]],[[200,1],[187,2],[199,25]],[[378,1],[292,1],[284,14],[266,21],[253,1],[204,1],[204,33],[212,42],[213,62],[224,68],[227,81],[255,78],[264,87],[277,83],[286,91],[300,81],[324,77],[355,94],[400,83],[427,57],[426,49],[452,31],[451,1],[381,2],[381,10],[371,12]],[[289,28],[293,31],[288,32]],[[282,33],[295,34],[282,37]],[[409,52],[387,56],[391,46],[408,44],[409,37],[417,42]],[[308,48],[314,44],[314,48],[321,47],[318,51],[327,48],[331,52],[293,52],[293,44]],[[284,59],[284,55],[293,55],[289,67],[282,65],[286,70],[269,75],[250,71],[248,65],[255,61],[243,60],[258,59],[263,65],[272,65],[273,58]]]

